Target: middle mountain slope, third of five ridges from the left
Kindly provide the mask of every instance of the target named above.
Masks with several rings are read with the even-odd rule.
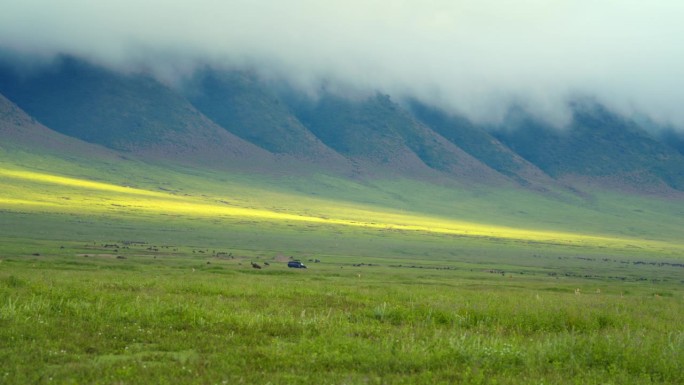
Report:
[[[437,171],[487,183],[504,179],[416,121],[388,96],[352,100],[326,94],[294,110],[326,145],[362,164],[413,175]]]

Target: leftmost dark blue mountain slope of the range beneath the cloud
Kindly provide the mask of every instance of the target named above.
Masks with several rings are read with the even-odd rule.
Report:
[[[51,129],[114,150],[210,162],[270,157],[144,74],[60,57],[29,76],[2,66],[0,92]]]

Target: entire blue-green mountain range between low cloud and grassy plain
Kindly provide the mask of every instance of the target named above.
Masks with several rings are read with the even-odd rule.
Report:
[[[442,179],[538,192],[684,191],[678,131],[656,130],[653,121],[642,124],[593,98],[568,104],[572,117],[563,129],[522,107],[509,108],[498,124],[482,124],[379,91],[313,95],[257,72],[211,66],[170,86],[147,72],[65,55],[30,71],[5,57],[0,94],[42,127],[35,138],[54,130],[109,151],[203,167]],[[4,124],[16,116],[3,115]],[[6,130],[3,137],[14,135]]]

